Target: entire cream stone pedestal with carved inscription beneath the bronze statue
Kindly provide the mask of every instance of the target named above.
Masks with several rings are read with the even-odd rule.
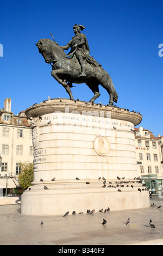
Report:
[[[22,214],[64,215],[67,211],[78,214],[87,209],[149,206],[148,191],[140,192],[140,183],[132,183],[134,188],[130,183],[137,177],[133,130],[142,120],[140,114],[52,99],[29,107],[26,115],[33,129],[34,181],[22,195]],[[125,179],[117,180],[117,176]],[[116,187],[117,181],[123,181],[118,184],[123,187]]]

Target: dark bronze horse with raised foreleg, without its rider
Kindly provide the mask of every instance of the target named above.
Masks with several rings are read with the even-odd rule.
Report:
[[[101,65],[93,65],[91,62],[86,62],[86,77],[78,77],[81,72],[81,66],[75,58],[75,54],[74,57],[68,58],[57,42],[53,42],[50,39],[40,39],[36,46],[39,48],[39,52],[42,54],[45,62],[53,66],[51,75],[66,89],[71,100],[74,100],[70,88],[72,83],[86,83],[94,93],[90,102],[93,103],[100,96],[99,84],[110,95],[109,106],[113,105],[113,101],[117,102],[118,95],[111,77]]]

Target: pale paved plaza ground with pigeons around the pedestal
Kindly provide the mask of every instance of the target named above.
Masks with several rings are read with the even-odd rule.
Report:
[[[20,204],[1,205],[0,245],[163,245],[163,199],[153,196],[153,203],[156,206],[146,209],[106,213],[96,209],[93,215],[66,217],[26,216],[20,214]],[[159,205],[162,208],[157,209]]]

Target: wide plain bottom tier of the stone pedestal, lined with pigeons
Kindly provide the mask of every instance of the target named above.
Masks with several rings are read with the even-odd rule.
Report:
[[[90,180],[90,184],[77,181],[76,184],[40,184],[31,187],[22,195],[21,213],[26,215],[64,215],[67,211],[71,215],[73,211],[79,212],[95,209],[111,211],[139,209],[149,207],[149,193],[141,184],[133,184],[134,188],[117,186],[117,183],[103,183]],[[108,187],[108,186],[115,187]],[[46,186],[49,189],[45,190]],[[138,191],[141,189],[141,192]],[[121,192],[118,192],[118,189]]]

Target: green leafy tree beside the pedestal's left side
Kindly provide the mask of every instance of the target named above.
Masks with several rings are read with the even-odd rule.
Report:
[[[30,162],[20,162],[20,174],[18,175],[18,182],[23,190],[26,190],[31,186],[33,181],[33,163]]]

